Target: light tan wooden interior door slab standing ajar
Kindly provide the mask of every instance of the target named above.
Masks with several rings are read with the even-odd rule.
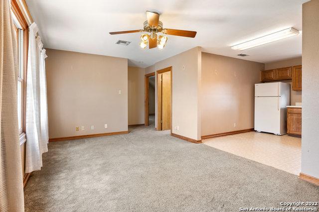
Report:
[[[160,74],[161,77],[161,129],[170,129],[171,113],[171,79],[170,71]]]

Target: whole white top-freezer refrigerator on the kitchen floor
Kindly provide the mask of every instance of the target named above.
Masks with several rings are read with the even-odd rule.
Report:
[[[255,130],[276,135],[287,134],[288,83],[255,84]]]

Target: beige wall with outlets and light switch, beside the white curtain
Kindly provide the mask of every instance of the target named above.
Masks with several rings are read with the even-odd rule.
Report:
[[[50,138],[128,130],[127,59],[54,49],[46,54]]]

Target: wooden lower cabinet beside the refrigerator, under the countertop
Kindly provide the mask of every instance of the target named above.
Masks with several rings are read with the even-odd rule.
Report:
[[[287,133],[292,135],[301,135],[301,114],[302,108],[287,108]]]

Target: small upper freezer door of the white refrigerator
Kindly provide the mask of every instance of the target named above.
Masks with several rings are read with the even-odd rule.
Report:
[[[255,97],[278,97],[280,96],[280,83],[255,84]]]

